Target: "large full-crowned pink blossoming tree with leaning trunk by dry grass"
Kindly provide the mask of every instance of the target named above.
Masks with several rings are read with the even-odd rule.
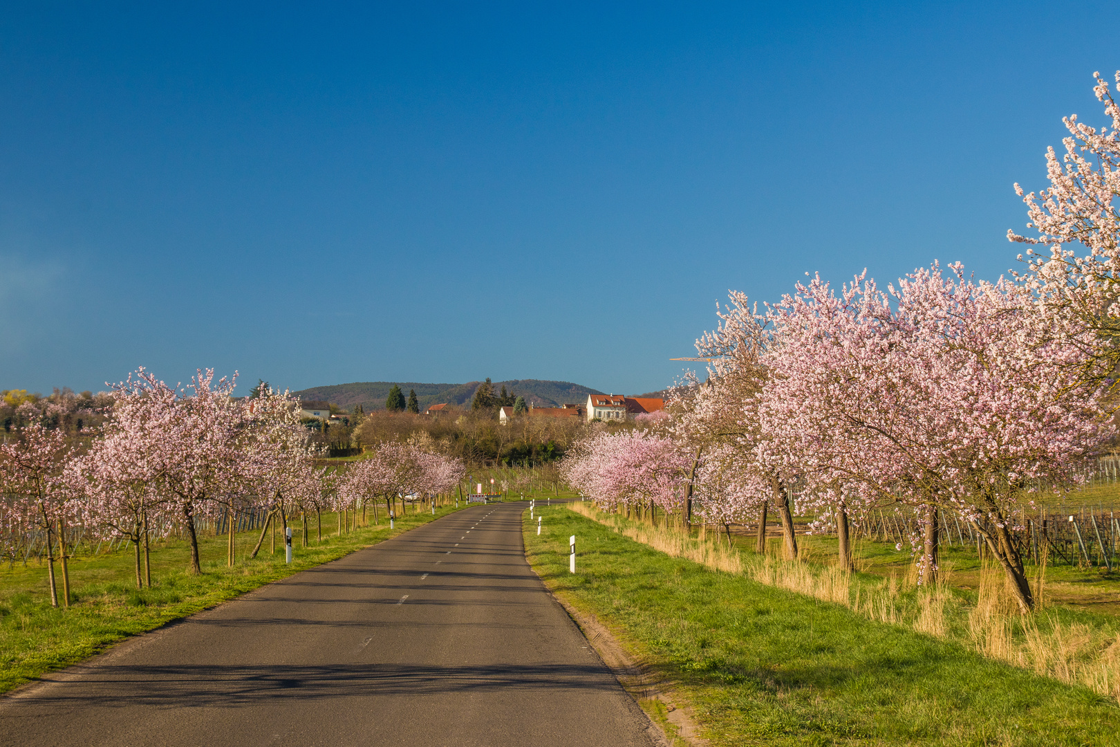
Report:
[[[1081,348],[1054,342],[1073,333],[960,265],[917,270],[889,297],[857,278],[837,298],[818,278],[777,311],[766,414],[809,473],[922,510],[926,572],[936,508],[960,513],[1029,609],[1012,514],[1034,480],[1071,478],[1110,432],[1102,391],[1077,385]]]

